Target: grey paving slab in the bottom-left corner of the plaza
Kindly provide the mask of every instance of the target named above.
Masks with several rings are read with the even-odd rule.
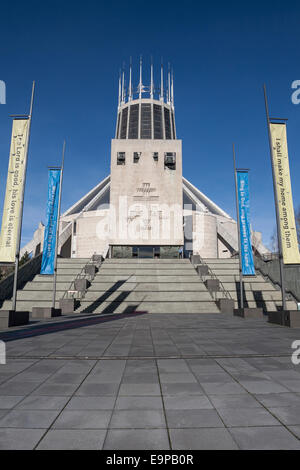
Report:
[[[1,450],[31,450],[39,442],[47,429],[1,429]]]

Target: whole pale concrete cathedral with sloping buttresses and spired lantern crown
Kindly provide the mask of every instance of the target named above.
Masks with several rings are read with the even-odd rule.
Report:
[[[182,175],[182,141],[177,138],[173,73],[154,86],[138,86],[132,68],[128,86],[119,78],[111,171],[60,218],[58,254],[90,258],[176,258],[200,254],[229,258],[238,251],[237,224]],[[165,80],[166,78],[166,80]],[[23,247],[43,249],[44,226]],[[252,232],[253,248],[263,254],[261,235]],[[22,254],[21,253],[21,254]]]

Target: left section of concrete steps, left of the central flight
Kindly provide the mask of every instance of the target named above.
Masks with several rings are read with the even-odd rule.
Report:
[[[71,282],[89,261],[88,258],[58,258],[56,300],[63,296],[70,287]],[[32,307],[51,307],[52,305],[53,276],[36,275],[31,282],[18,290],[17,310],[32,311]],[[1,309],[9,310],[11,300],[5,300]]]

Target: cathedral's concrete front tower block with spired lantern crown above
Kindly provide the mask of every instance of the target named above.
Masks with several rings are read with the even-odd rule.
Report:
[[[111,145],[112,256],[176,256],[183,246],[182,153],[176,139],[173,77],[164,88],[120,76],[116,137]],[[114,225],[115,219],[115,227]]]

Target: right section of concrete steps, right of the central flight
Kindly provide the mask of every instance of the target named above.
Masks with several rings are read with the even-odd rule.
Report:
[[[239,260],[207,258],[203,261],[222,282],[224,289],[235,300],[235,308],[238,308],[240,295]],[[277,307],[281,307],[280,288],[272,284],[268,278],[264,278],[259,271],[256,271],[255,276],[244,276],[243,285],[245,307],[262,307],[265,312],[276,311]],[[217,293],[218,297],[223,297],[221,292]],[[287,309],[297,310],[297,304],[291,297],[290,300],[287,300]]]

